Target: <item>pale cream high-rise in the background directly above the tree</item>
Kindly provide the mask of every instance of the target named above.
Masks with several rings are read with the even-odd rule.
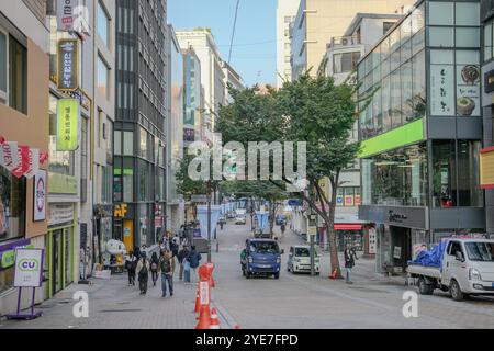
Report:
[[[292,80],[290,24],[295,20],[300,0],[278,0],[277,8],[277,84]]]

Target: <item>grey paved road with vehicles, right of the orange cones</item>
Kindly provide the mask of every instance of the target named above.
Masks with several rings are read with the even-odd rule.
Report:
[[[359,260],[353,285],[332,281],[329,258],[322,257],[321,276],[292,274],[282,260],[280,280],[246,280],[239,269],[239,252],[250,236],[249,225],[228,225],[218,231],[215,256],[218,280],[215,297],[229,324],[242,328],[494,328],[494,299],[457,303],[446,294],[419,296],[418,318],[403,317],[404,280],[373,273],[373,261]],[[288,252],[301,244],[294,234],[279,239]]]

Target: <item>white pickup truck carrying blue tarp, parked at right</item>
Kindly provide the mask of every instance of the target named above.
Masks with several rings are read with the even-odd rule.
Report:
[[[494,240],[448,239],[440,267],[409,263],[419,293],[450,292],[456,301],[469,295],[494,295]]]

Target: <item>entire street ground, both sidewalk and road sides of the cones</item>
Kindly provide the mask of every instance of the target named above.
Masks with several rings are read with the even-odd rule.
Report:
[[[213,304],[220,312],[222,328],[494,328],[494,299],[470,298],[457,303],[447,294],[419,296],[418,318],[402,315],[401,278],[372,273],[373,261],[360,259],[355,269],[355,284],[332,281],[328,256],[323,254],[321,276],[292,274],[285,271],[287,254],[280,280],[246,280],[239,270],[239,252],[250,236],[250,225],[228,224],[218,230],[220,252],[216,263],[216,288]],[[287,233],[279,239],[285,252],[302,239]],[[205,259],[205,254],[203,254]],[[126,286],[124,276],[110,281],[94,280],[92,286],[71,285],[37,308],[44,316],[33,321],[0,322],[0,328],[193,328],[195,326],[195,286],[177,281],[173,297],[160,298],[159,286],[141,296],[136,287]],[[159,282],[158,282],[159,284]],[[409,287],[415,291],[415,287]],[[72,317],[72,294],[89,293],[89,318]]]

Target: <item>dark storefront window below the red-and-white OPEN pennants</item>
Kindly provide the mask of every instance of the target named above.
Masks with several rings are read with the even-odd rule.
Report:
[[[0,167],[0,242],[25,234],[25,178]]]

